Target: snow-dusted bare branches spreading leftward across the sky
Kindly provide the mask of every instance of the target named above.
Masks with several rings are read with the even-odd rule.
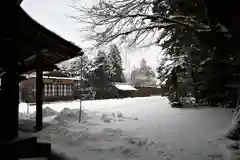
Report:
[[[87,27],[81,31],[87,31],[88,39],[94,40],[96,47],[114,40],[127,43],[129,47],[158,44],[161,29],[175,25],[197,32],[210,31],[209,26],[191,17],[153,12],[156,3],[166,8],[165,2],[164,0],[99,0],[89,8],[72,5],[79,14],[71,18],[87,24]]]

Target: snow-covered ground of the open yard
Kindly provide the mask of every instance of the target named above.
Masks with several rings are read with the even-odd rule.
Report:
[[[225,159],[221,134],[231,123],[230,109],[176,109],[159,96],[84,101],[78,124],[79,101],[44,107],[65,109],[44,118],[53,125],[40,133],[40,140],[51,141],[54,150],[75,160]],[[25,113],[27,105],[19,110]]]

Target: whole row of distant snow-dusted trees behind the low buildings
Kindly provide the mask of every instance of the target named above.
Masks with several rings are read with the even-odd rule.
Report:
[[[133,86],[156,85],[155,72],[144,58],[140,61],[139,67],[133,68],[130,80],[126,78],[121,52],[116,44],[110,45],[107,52],[99,50],[97,56],[92,59],[83,55],[75,58],[68,66],[63,65],[60,68],[63,75],[79,79],[82,71],[82,78],[101,91],[108,90],[117,82]]]

